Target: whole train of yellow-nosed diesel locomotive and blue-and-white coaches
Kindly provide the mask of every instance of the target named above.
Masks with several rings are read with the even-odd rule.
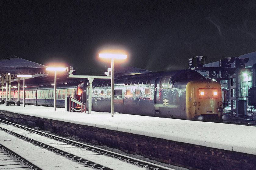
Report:
[[[87,106],[88,102],[92,102],[94,111],[110,112],[110,80],[94,79],[92,101],[89,101],[87,84],[84,81],[79,84],[57,85],[57,107],[64,107],[65,97],[70,96]],[[53,106],[52,86],[27,87],[25,90],[27,104]],[[12,90],[12,93],[12,100],[16,100],[17,90]],[[22,94],[20,99],[22,103]],[[197,121],[222,121],[229,118],[223,114],[220,83],[205,79],[194,70],[115,77],[114,111]]]

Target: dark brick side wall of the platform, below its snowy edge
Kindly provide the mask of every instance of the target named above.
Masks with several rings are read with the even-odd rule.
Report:
[[[256,155],[152,138],[104,128],[27,116],[0,110],[0,118],[31,127],[72,136],[85,142],[107,145],[124,152],[138,154],[167,164],[188,169],[254,170]]]

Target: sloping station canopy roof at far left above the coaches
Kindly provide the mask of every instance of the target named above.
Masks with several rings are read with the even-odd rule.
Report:
[[[0,60],[0,73],[11,74],[39,74],[47,73],[46,68],[42,64],[38,64],[29,60],[22,59],[17,56],[10,56]]]

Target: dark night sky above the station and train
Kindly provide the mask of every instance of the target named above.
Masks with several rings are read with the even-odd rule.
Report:
[[[187,69],[192,56],[256,51],[255,11],[255,0],[0,0],[0,57],[105,71],[97,53],[114,44],[129,51],[121,66]]]

